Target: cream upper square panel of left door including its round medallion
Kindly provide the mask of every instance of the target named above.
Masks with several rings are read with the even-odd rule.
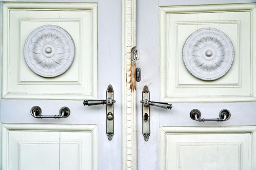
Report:
[[[97,98],[97,7],[97,3],[3,3],[2,98]],[[46,46],[53,55],[48,55]],[[44,77],[49,74],[54,77]]]

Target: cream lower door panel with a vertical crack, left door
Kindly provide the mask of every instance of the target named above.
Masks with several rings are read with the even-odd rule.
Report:
[[[3,170],[96,170],[96,125],[2,125]]]

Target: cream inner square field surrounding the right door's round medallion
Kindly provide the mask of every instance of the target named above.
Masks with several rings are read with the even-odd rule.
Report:
[[[209,16],[210,17],[210,16]],[[209,85],[219,85],[219,87],[223,85],[228,85],[228,86],[240,86],[241,85],[241,79],[240,79],[240,67],[241,65],[241,56],[240,56],[240,47],[238,46],[238,42],[240,41],[240,22],[238,21],[210,21],[210,22],[176,22],[175,23],[175,28],[176,28],[176,34],[177,34],[177,39],[176,43],[180,44],[182,46],[182,42],[185,42],[186,39],[192,34],[193,32],[197,31],[198,29],[202,28],[215,28],[218,30],[221,30],[224,32],[232,41],[233,47],[234,47],[234,53],[236,54],[236,57],[234,57],[234,62],[233,65],[230,69],[230,71],[227,72],[224,78],[217,79],[215,81],[198,81],[198,79],[194,76],[183,76],[187,74],[188,70],[184,67],[184,63],[182,60],[182,48],[177,49],[177,55],[176,55],[176,60],[177,60],[177,72],[176,72],[176,77],[177,77],[177,87],[178,86],[183,86],[183,85],[189,85],[189,86],[195,86],[195,85],[201,85],[201,86],[209,86]],[[189,28],[189,31],[188,31]],[[232,30],[230,32],[229,30]],[[236,34],[234,34],[236,33]]]

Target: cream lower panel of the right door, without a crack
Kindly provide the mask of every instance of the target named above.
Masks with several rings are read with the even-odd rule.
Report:
[[[160,170],[254,170],[256,127],[162,127]]]

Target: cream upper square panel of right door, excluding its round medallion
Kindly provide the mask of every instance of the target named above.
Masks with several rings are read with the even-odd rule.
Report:
[[[255,4],[160,7],[160,97],[165,102],[255,101],[252,69]],[[234,8],[234,10],[232,10]],[[229,10],[227,10],[229,9]],[[248,10],[251,9],[251,10]],[[236,11],[237,10],[237,11]],[[234,47],[230,70],[213,81],[194,77],[182,52],[187,38],[199,29],[226,34]]]

